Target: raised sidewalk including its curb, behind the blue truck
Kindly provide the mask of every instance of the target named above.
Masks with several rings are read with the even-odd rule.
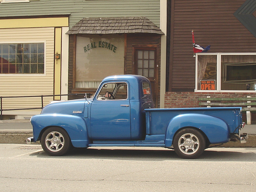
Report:
[[[220,147],[256,147],[256,125],[245,125],[242,132],[248,134],[246,143],[228,142]],[[0,120],[0,143],[26,144],[30,136],[33,136],[30,120]]]

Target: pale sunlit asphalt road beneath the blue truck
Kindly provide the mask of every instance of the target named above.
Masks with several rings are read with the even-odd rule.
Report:
[[[137,150],[136,150],[137,149]],[[164,148],[75,149],[0,144],[0,191],[256,191],[256,148],[210,148],[196,160]]]

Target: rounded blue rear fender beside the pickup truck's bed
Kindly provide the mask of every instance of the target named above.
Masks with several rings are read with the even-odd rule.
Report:
[[[230,140],[230,130],[222,119],[204,114],[180,114],[172,118],[167,126],[166,147],[172,145],[175,133],[185,127],[201,130],[211,144],[225,143]]]

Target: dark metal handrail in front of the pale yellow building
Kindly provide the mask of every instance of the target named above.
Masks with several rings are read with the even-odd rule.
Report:
[[[0,111],[2,120],[3,111],[14,111],[14,110],[31,110],[31,109],[42,109],[44,108],[44,97],[54,97],[54,96],[70,96],[70,95],[85,95],[84,93],[77,93],[77,94],[60,94],[60,95],[36,95],[36,96],[0,96]],[[3,98],[29,98],[29,97],[41,97],[41,107],[35,108],[14,108],[14,109],[3,109]]]

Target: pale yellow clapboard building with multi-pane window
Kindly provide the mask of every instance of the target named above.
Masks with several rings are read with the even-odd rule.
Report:
[[[68,17],[0,20],[0,96],[37,96],[68,93]],[[60,59],[55,59],[55,54]],[[45,97],[44,106],[52,100]],[[41,98],[2,98],[5,118],[39,114]]]

